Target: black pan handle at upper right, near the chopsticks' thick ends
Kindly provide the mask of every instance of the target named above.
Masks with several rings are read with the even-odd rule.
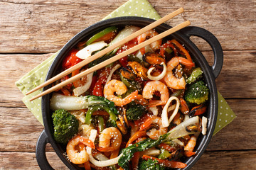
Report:
[[[217,38],[208,30],[196,26],[189,26],[183,28],[181,30],[181,33],[183,33],[183,35],[186,35],[188,38],[190,38],[191,35],[194,35],[199,38],[203,38],[203,40],[206,40],[206,42],[208,42],[210,47],[213,49],[214,63],[212,69],[213,76],[216,79],[218,77],[218,74],[220,74],[220,70],[223,66],[223,50]]]

